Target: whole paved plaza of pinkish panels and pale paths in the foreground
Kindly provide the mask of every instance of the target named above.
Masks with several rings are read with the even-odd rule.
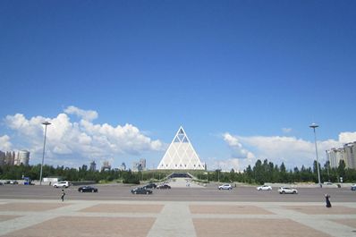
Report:
[[[356,236],[356,203],[0,199],[0,236]]]

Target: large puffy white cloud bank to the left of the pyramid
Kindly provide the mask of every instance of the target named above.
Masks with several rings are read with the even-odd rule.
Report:
[[[72,121],[68,114],[77,114],[81,120]],[[160,140],[150,139],[132,124],[113,126],[93,123],[95,118],[95,111],[69,106],[64,113],[54,118],[35,116],[28,119],[23,114],[14,114],[7,115],[4,122],[16,131],[21,140],[27,141],[30,151],[38,157],[43,148],[42,123],[51,123],[47,126],[47,156],[58,162],[61,162],[61,157],[108,160],[118,156],[139,156],[143,152],[157,151],[163,147]]]

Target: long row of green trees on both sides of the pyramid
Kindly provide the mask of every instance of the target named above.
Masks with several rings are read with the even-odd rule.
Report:
[[[4,165],[0,166],[0,179],[21,180],[29,177],[31,180],[39,180],[41,165]],[[356,170],[346,169],[343,161],[337,168],[330,168],[328,162],[319,165],[321,182],[356,182]],[[43,166],[43,177],[62,177],[64,180],[72,182],[93,181],[93,182],[157,182],[162,181],[173,171],[150,170],[132,172],[131,170],[108,170],[92,171],[87,165],[80,168],[69,168],[62,166]],[[182,171],[186,172],[186,171]],[[221,170],[215,171],[189,171],[199,182],[244,182],[252,184],[263,184],[265,182],[315,182],[318,183],[317,161],[313,167],[294,167],[287,170],[284,163],[275,165],[272,162],[258,160],[255,165],[249,165],[242,173],[236,173],[233,169],[230,172]]]

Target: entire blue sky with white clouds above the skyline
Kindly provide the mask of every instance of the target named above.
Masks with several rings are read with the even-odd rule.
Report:
[[[356,140],[354,1],[1,1],[0,150],[146,158],[182,125],[208,169]]]

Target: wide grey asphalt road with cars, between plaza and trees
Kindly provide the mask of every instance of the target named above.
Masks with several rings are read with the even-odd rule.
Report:
[[[237,186],[233,190],[217,190],[210,184],[204,188],[173,187],[171,190],[153,190],[151,195],[131,194],[137,186],[93,185],[97,193],[81,193],[79,186],[64,189],[65,199],[72,200],[166,200],[166,201],[250,201],[250,202],[320,202],[325,194],[331,196],[331,202],[354,202],[356,191],[350,188],[297,188],[298,194],[279,194],[273,190],[256,190],[253,186]],[[62,189],[52,186],[1,185],[0,199],[60,199]]]

